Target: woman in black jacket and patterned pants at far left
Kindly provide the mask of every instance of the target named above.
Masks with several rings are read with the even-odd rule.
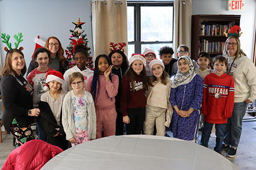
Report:
[[[26,70],[23,53],[18,49],[9,50],[0,83],[5,107],[2,121],[7,132],[16,138],[15,148],[35,139],[30,124],[40,113],[39,109],[32,109],[32,86],[23,78]]]

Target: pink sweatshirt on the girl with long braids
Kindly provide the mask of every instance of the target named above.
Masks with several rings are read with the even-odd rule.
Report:
[[[106,82],[104,75],[99,75],[100,79],[100,93],[97,96],[97,100],[94,101],[96,109],[111,109],[115,107],[115,96],[118,92],[118,76],[112,74],[112,81]],[[90,76],[85,90],[92,94],[92,80],[93,76]],[[98,86],[98,85],[97,85]],[[98,87],[97,87],[98,89]],[[97,91],[98,93],[98,91]]]

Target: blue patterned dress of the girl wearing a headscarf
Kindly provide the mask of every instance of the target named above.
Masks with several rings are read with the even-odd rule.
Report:
[[[188,111],[189,108],[195,109],[189,117],[179,116],[174,109],[174,114],[172,115],[172,131],[174,138],[187,141],[194,139],[202,99],[203,80],[198,74],[188,84],[172,88],[170,95],[172,107],[177,105],[182,111]]]

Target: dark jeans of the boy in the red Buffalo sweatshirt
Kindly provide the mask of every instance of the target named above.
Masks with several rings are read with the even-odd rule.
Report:
[[[221,146],[222,146],[223,138],[225,136],[225,125],[226,124],[215,124],[216,145],[214,147],[214,151],[216,151],[218,153],[220,153],[222,151]],[[208,147],[210,133],[212,132],[212,126],[213,126],[213,124],[204,121],[204,128],[202,131],[200,145]]]

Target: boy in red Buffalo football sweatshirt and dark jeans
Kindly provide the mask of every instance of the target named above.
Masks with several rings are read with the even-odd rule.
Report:
[[[225,136],[225,125],[232,116],[234,105],[234,81],[225,74],[228,61],[223,56],[214,57],[214,73],[205,76],[202,112],[204,128],[200,144],[208,147],[212,126],[216,128],[216,145],[214,151],[221,153]]]

